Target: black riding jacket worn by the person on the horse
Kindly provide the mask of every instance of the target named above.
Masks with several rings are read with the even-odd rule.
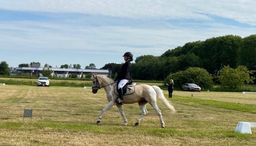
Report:
[[[130,76],[130,70],[131,70],[131,61],[128,60],[122,65],[121,72],[117,75],[116,80],[120,81],[122,79],[126,79],[128,81],[132,80]]]

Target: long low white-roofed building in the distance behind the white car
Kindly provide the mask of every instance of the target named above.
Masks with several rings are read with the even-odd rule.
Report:
[[[34,76],[38,76],[43,69],[48,69],[47,67],[16,67],[15,74],[19,73],[29,73]],[[72,69],[72,68],[49,68],[52,71],[52,76],[57,74],[57,77],[69,77],[70,74],[77,74],[78,78],[81,75],[92,73],[95,75],[111,75],[111,70],[108,69]]]

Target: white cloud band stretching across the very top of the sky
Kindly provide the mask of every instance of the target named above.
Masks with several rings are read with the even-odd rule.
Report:
[[[134,19],[210,19],[215,15],[256,23],[253,0],[1,0],[0,9],[82,13]]]

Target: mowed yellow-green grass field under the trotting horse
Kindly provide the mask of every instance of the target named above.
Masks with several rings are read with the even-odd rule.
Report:
[[[256,94],[174,91],[167,98],[174,114],[157,99],[166,128],[149,104],[134,127],[138,104],[123,105],[127,126],[115,106],[96,124],[108,103],[103,89],[93,94],[77,87],[0,86],[0,145],[255,145],[256,128],[252,135],[234,132],[238,121],[256,122],[255,99]],[[27,105],[32,124],[30,118],[23,123]]]

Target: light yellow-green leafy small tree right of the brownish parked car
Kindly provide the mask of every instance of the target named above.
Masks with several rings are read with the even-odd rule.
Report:
[[[250,76],[255,71],[249,71],[246,66],[240,65],[236,69],[224,66],[220,75],[216,76],[222,87],[237,88],[247,83],[253,83],[254,77]]]

